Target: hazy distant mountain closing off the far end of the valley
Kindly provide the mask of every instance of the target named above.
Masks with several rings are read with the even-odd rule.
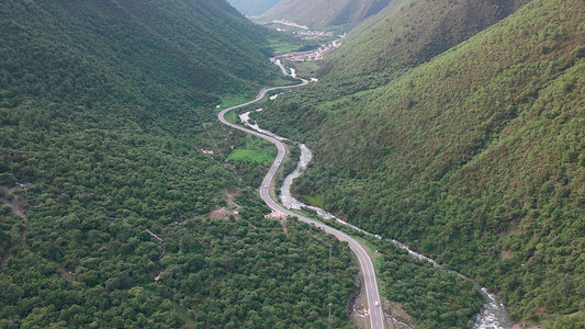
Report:
[[[391,0],[281,0],[263,13],[261,19],[284,20],[311,29],[322,29],[363,21],[390,2]]]

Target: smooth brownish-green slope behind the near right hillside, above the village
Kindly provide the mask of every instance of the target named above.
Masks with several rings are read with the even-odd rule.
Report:
[[[320,69],[331,81],[387,81],[514,13],[529,0],[396,0],[344,39]],[[374,76],[381,79],[364,79]]]

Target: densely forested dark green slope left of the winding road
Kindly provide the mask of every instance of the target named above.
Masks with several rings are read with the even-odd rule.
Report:
[[[279,75],[260,29],[223,0],[2,1],[0,328],[348,325],[347,248],[224,166],[214,105]]]

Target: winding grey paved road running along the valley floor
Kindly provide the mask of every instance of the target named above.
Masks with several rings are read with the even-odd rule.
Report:
[[[251,134],[254,136],[258,136],[258,137],[263,138],[263,139],[268,140],[268,141],[270,141],[270,143],[272,143],[272,144],[274,144],[277,146],[277,149],[278,149],[277,159],[274,160],[274,162],[272,162],[272,166],[268,170],[268,173],[266,174],[265,180],[262,181],[262,184],[260,185],[260,197],[262,197],[262,200],[266,202],[266,204],[269,207],[271,207],[274,212],[279,212],[279,213],[281,213],[283,215],[286,215],[286,216],[297,217],[299,220],[304,222],[304,223],[308,223],[308,224],[311,224],[313,226],[316,226],[316,227],[323,229],[325,232],[335,236],[338,240],[348,242],[349,248],[351,249],[351,251],[353,251],[353,253],[358,258],[358,261],[360,262],[361,272],[363,274],[363,283],[364,283],[364,286],[365,286],[365,295],[368,296],[368,307],[370,308],[370,325],[371,325],[370,328],[372,328],[372,329],[383,329],[384,328],[384,314],[382,311],[382,306],[380,305],[380,302],[379,302],[380,300],[380,293],[378,291],[378,282],[376,282],[376,279],[375,279],[375,271],[374,271],[374,266],[373,266],[372,260],[370,259],[370,256],[368,254],[365,249],[363,249],[363,247],[358,241],[356,241],[353,238],[351,238],[347,234],[345,234],[345,232],[342,232],[340,230],[337,230],[337,229],[335,229],[333,227],[329,227],[329,226],[327,226],[327,225],[325,225],[325,224],[323,224],[320,222],[316,222],[316,220],[313,220],[311,218],[307,218],[307,217],[301,216],[299,214],[295,214],[295,213],[284,208],[283,206],[281,206],[274,200],[272,200],[270,197],[270,193],[269,193],[270,182],[272,182],[279,166],[281,164],[282,160],[284,159],[284,154],[285,154],[284,145],[280,140],[275,139],[274,137],[271,137],[271,136],[268,136],[268,135],[265,135],[265,134],[260,134],[258,132],[255,132],[255,131],[251,131],[251,129],[248,129],[248,128],[232,124],[232,123],[229,123],[229,122],[227,122],[225,120],[225,114],[227,112],[229,112],[232,110],[235,110],[235,109],[247,106],[247,105],[252,104],[255,102],[258,102],[259,100],[261,100],[266,95],[267,92],[269,92],[271,90],[297,88],[297,87],[306,86],[308,83],[308,81],[305,80],[305,79],[300,79],[300,80],[302,82],[299,83],[299,84],[284,86],[284,87],[273,87],[273,88],[268,88],[268,89],[267,88],[262,88],[260,90],[260,92],[258,93],[258,95],[254,100],[251,100],[249,102],[246,102],[246,103],[243,103],[243,104],[239,104],[239,105],[235,105],[235,106],[232,106],[232,107],[223,110],[222,112],[220,112],[217,114],[217,118],[220,120],[220,122],[222,122],[223,124],[225,124],[227,126],[230,126],[230,127],[233,127],[235,129],[243,131],[243,132]],[[376,302],[378,302],[379,306],[375,305]]]

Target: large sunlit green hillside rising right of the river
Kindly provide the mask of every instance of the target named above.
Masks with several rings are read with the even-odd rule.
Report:
[[[575,325],[585,308],[584,22],[582,1],[535,0],[376,89],[279,98],[261,124],[314,148],[299,195],[322,194],[359,227],[476,279],[517,320],[581,311],[556,319]]]

